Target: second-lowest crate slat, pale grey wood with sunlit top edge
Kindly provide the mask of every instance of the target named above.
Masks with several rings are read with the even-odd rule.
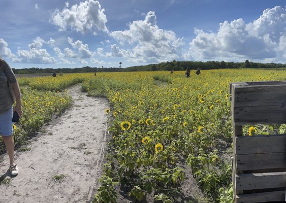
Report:
[[[235,176],[237,190],[286,187],[286,172],[239,174]]]

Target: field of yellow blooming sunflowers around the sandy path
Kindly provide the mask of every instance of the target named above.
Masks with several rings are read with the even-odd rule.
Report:
[[[81,83],[90,96],[107,97],[107,163],[93,202],[117,202],[118,188],[134,201],[182,202],[185,168],[209,202],[231,203],[232,119],[229,83],[284,80],[284,70],[64,74],[19,78],[23,116],[16,145],[72,105],[67,88]],[[286,125],[244,126],[243,134],[285,133]],[[4,151],[0,138],[0,150]],[[192,188],[191,188],[192,189]],[[191,202],[191,201],[190,201]]]

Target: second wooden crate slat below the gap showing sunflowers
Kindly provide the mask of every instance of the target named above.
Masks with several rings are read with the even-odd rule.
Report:
[[[286,153],[236,155],[236,165],[238,171],[286,168]]]

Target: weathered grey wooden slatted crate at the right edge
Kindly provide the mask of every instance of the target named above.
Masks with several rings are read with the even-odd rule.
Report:
[[[242,136],[242,126],[286,123],[286,81],[230,85],[235,203],[285,201],[286,134]]]

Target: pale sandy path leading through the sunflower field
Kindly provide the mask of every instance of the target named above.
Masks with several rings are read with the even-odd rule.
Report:
[[[0,202],[90,202],[101,175],[106,147],[108,102],[87,97],[80,85],[69,89],[71,109],[34,138],[30,151],[16,152],[17,177],[10,178],[9,158],[0,157]],[[66,175],[62,182],[51,178]],[[9,182],[11,180],[11,182]]]

